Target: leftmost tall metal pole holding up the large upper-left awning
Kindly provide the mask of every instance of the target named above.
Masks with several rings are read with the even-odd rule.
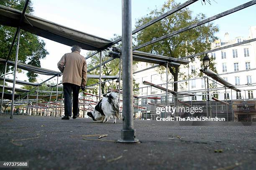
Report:
[[[13,75],[13,94],[12,94],[12,106],[10,112],[10,119],[13,118],[13,108],[14,108],[14,97],[15,97],[15,84],[16,84],[16,72],[17,72],[17,65],[18,65],[18,54],[19,54],[19,45],[20,45],[20,27],[18,27],[18,40],[17,40],[17,47],[16,47],[16,56],[15,56],[15,65],[14,65],[14,75]]]

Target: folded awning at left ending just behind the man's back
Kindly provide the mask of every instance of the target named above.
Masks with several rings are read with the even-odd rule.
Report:
[[[0,63],[5,63],[5,62],[6,62],[5,59],[0,58]],[[13,66],[15,65],[14,61],[8,60],[8,63],[10,65],[13,65]],[[42,74],[42,75],[57,75],[57,74],[61,74],[61,72],[57,72],[57,71],[53,71],[53,70],[48,70],[48,69],[45,69],[45,68],[24,64],[24,63],[21,63],[21,62],[18,62],[17,67],[22,69],[22,70],[27,70],[27,71],[35,72],[35,73]]]

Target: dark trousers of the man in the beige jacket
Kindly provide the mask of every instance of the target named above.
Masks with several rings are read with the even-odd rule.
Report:
[[[74,85],[68,82],[63,83],[65,116],[72,116],[72,102],[71,102],[72,92],[73,92],[73,116],[76,116],[79,113],[79,107],[78,107],[79,90],[80,90],[80,86],[78,85]]]

